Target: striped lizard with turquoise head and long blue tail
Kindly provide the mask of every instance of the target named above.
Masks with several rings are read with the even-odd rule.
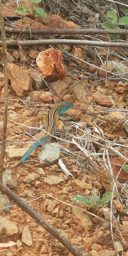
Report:
[[[33,144],[33,146],[27,151],[27,153],[18,161],[18,163],[16,163],[16,165],[10,167],[9,169],[12,170],[15,167],[19,166],[20,163],[24,162],[29,157],[29,155],[33,152],[33,150],[35,148],[37,148],[41,143],[49,140],[52,137],[52,134],[54,132],[58,132],[59,134],[63,133],[63,131],[56,129],[58,120],[59,120],[59,116],[61,114],[64,114],[65,111],[67,111],[68,109],[71,109],[71,108],[73,108],[72,103],[68,103],[65,101],[57,103],[43,118],[44,124],[46,126],[46,132],[48,132],[48,134],[44,137],[39,138]],[[64,138],[64,136],[63,136],[63,138]]]

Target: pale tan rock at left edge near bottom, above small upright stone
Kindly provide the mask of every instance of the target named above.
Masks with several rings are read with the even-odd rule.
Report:
[[[8,221],[6,218],[3,218],[2,216],[0,216],[0,224],[5,227],[5,234],[7,236],[12,236],[18,233],[18,228],[16,225],[13,222]]]

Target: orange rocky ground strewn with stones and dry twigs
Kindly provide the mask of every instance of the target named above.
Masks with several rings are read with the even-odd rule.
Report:
[[[42,7],[47,18],[34,22],[32,15],[21,18],[15,13],[14,1],[7,2],[3,4],[5,26],[15,24],[21,28],[23,23],[26,28],[33,22],[33,29],[95,29],[106,21],[106,11],[118,14],[112,2],[84,2],[44,1]],[[120,8],[124,11],[123,6]],[[14,38],[14,34],[6,34],[6,37]],[[109,41],[108,35],[65,37]],[[33,38],[56,39],[59,36]],[[30,36],[20,35],[20,40],[26,39]],[[22,49],[12,46],[7,50],[9,83],[4,184],[68,238],[83,256],[128,256],[128,174],[122,168],[128,164],[128,50],[76,45]],[[37,58],[40,52],[43,52],[41,67]],[[59,129],[65,129],[65,140],[52,138],[34,150],[26,162],[10,170],[35,138],[42,136],[43,117],[53,107],[53,99],[74,103],[74,108],[65,112],[58,124]],[[3,110],[4,75],[0,48],[1,140]],[[32,136],[29,128],[36,127],[40,127],[39,133]],[[100,201],[98,205],[97,201],[92,206],[73,200],[77,195],[88,199],[92,195],[99,196],[102,200],[105,192],[113,195],[106,204]],[[71,253],[1,193],[0,255],[70,256]]]

